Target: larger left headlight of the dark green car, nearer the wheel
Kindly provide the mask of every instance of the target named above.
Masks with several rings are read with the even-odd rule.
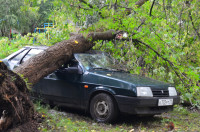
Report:
[[[153,93],[150,87],[137,87],[138,97],[153,97]]]

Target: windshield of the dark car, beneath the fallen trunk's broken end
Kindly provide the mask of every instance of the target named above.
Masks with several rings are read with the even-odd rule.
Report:
[[[121,70],[123,68],[117,61],[107,54],[75,54],[75,58],[87,70]],[[120,68],[120,69],[119,69]],[[124,68],[123,68],[124,70]]]

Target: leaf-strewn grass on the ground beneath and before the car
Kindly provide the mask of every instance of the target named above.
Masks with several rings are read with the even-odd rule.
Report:
[[[54,108],[35,103],[37,112],[45,117],[38,128],[40,131],[70,132],[163,132],[169,131],[169,124],[174,124],[175,132],[200,130],[200,113],[182,106],[175,106],[174,111],[154,117],[121,116],[115,124],[94,122],[83,111]]]

